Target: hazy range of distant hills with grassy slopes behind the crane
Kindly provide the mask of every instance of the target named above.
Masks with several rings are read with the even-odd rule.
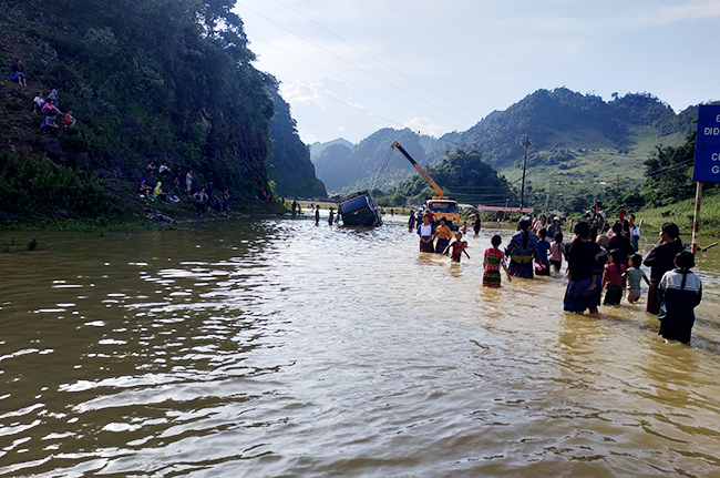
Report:
[[[566,88],[538,90],[505,111],[494,111],[464,132],[440,139],[419,136],[410,130],[380,130],[358,146],[326,149],[313,162],[329,190],[348,192],[373,183],[379,156],[399,141],[420,164],[436,164],[457,149],[480,151],[483,161],[520,187],[523,146],[528,135],[526,191],[547,196],[560,193],[598,195],[609,184],[632,189],[642,181],[642,161],[656,145],[679,145],[693,131],[697,106],[676,114],[649,93],[614,94],[610,101]],[[362,145],[362,148],[360,148]],[[401,156],[393,170],[378,180],[391,187],[416,174]],[[403,177],[404,175],[404,177]],[[442,184],[441,184],[442,186]]]

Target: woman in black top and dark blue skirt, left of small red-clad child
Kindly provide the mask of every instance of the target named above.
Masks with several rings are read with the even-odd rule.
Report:
[[[575,238],[567,247],[569,281],[565,289],[563,309],[583,314],[587,308],[592,314],[597,314],[597,286],[593,269],[596,256],[601,252],[600,246],[590,240],[588,223],[582,221],[575,224],[574,232]]]

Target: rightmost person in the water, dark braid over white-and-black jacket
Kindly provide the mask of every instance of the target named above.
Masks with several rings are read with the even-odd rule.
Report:
[[[675,268],[665,273],[658,285],[660,298],[659,335],[667,340],[690,343],[695,325],[695,307],[702,299],[700,277],[690,272],[695,255],[681,251],[675,256]]]

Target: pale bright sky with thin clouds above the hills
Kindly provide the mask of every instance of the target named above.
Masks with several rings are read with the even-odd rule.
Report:
[[[305,143],[439,138],[539,90],[720,100],[720,0],[238,0]]]

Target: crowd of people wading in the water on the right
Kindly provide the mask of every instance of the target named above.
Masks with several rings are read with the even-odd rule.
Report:
[[[559,275],[564,257],[567,261],[564,277],[568,279],[564,311],[596,314],[600,304],[619,305],[626,289],[628,302],[635,303],[641,297],[640,284],[645,281],[649,286],[646,309],[658,315],[659,335],[666,340],[690,342],[693,309],[702,298],[702,284],[690,271],[695,266],[695,255],[685,250],[675,223],[662,225],[660,241],[645,258],[637,254],[639,231],[635,226],[627,227],[618,221],[607,234],[596,235],[588,222],[580,221],[573,228],[570,243],[564,244],[559,218],[555,217],[554,223],[552,243],[547,241],[548,231],[541,227],[535,232],[528,220],[521,220],[520,231],[504,252],[500,248],[502,237],[494,235],[483,258],[483,286],[500,287],[501,268],[505,269],[508,281],[511,277],[551,275],[551,268]],[[452,232],[444,218],[435,227],[430,217],[423,215],[418,234],[421,252],[444,253],[452,248],[449,247]],[[435,238],[438,243],[433,245]],[[462,233],[457,233],[452,244],[455,243],[460,244],[456,246],[460,248],[456,262],[460,262],[460,254],[466,247]],[[650,267],[649,279],[640,265]]]

